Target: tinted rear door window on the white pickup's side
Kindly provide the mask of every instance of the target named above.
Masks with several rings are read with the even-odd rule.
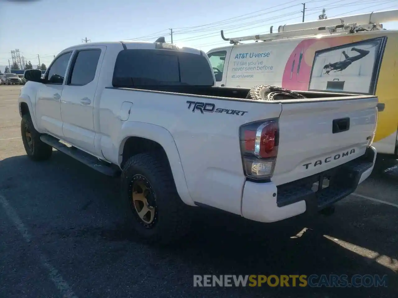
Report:
[[[77,53],[76,60],[70,77],[70,85],[86,85],[96,76],[101,50],[81,50]]]

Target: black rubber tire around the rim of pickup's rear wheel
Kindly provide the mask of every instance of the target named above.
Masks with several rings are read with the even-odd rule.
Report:
[[[153,244],[169,244],[187,234],[191,216],[189,206],[178,195],[167,161],[159,156],[161,155],[140,153],[126,161],[121,175],[121,199],[129,225],[142,240]],[[156,222],[150,227],[140,221],[137,211],[131,205],[132,180],[136,175],[148,180],[156,198]]]

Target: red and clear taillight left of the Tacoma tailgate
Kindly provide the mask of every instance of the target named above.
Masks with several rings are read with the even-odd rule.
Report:
[[[245,175],[261,180],[271,178],[279,145],[278,119],[252,122],[240,127],[240,150]]]

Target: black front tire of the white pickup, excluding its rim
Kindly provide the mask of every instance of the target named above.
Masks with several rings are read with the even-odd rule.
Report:
[[[31,146],[32,148],[28,145],[25,134],[26,129],[28,129],[31,134],[31,140],[33,141],[33,145]],[[22,116],[21,137],[23,147],[25,147],[26,154],[30,159],[34,161],[45,161],[53,154],[53,147],[41,141],[40,134],[35,130],[32,119],[28,114]]]

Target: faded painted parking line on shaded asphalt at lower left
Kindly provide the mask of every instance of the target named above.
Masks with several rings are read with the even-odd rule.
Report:
[[[55,284],[57,289],[61,292],[62,297],[78,298],[76,294],[72,291],[68,283],[66,283],[66,281],[62,278],[62,276],[58,273],[58,270],[55,269],[55,267],[53,267],[53,265],[49,263],[47,257],[40,252],[39,247],[34,242],[31,242],[32,237],[27,231],[27,228],[22,223],[20,217],[18,216],[14,208],[8,203],[7,199],[1,194],[0,194],[0,203],[4,208],[4,211],[8,215],[8,218],[12,221],[17,230],[21,233],[22,238],[26,242],[28,242],[30,246],[33,247],[37,252],[41,265],[49,271],[49,277],[51,281]]]

